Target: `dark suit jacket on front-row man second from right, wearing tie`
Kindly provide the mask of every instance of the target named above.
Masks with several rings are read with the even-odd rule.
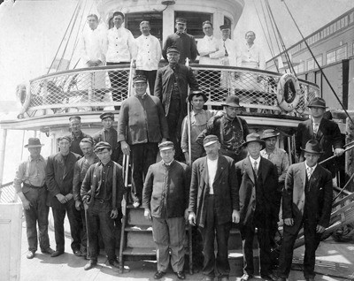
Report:
[[[240,183],[240,224],[246,224],[253,219],[256,206],[256,178],[250,156],[235,164],[237,180]],[[264,194],[262,201],[264,206],[262,208],[266,214],[266,221],[264,227],[272,225],[278,221],[279,203],[276,200],[276,192],[278,188],[278,172],[276,166],[267,160],[260,157],[258,166],[258,177],[262,178],[260,188]]]

